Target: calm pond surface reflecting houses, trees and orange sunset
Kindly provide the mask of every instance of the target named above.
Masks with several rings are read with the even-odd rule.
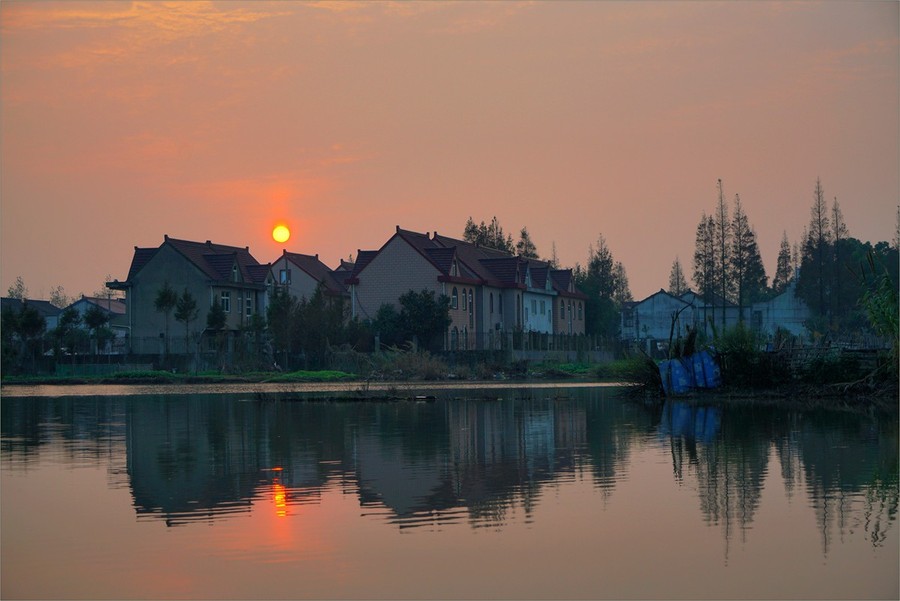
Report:
[[[306,390],[4,389],[0,596],[900,596],[896,416]]]

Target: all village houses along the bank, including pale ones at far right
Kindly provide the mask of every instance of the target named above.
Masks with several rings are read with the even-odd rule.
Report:
[[[654,342],[683,334],[688,326],[711,334],[713,323],[722,328],[741,320],[763,335],[781,329],[802,337],[810,313],[794,294],[796,281],[793,278],[782,294],[742,311],[721,299],[705,301],[692,291],[676,296],[660,290],[623,305],[619,338],[640,342],[651,352]],[[236,334],[255,314],[266,314],[276,288],[298,299],[310,299],[321,288],[340,303],[348,319],[363,321],[374,319],[385,303],[396,307],[410,290],[446,295],[451,319],[444,337],[447,350],[500,348],[503,337],[515,331],[585,333],[587,297],[576,289],[571,269],[399,226],[379,250],[359,250],[354,262],[342,260],[336,269],[318,255],[284,250],[277,260],[263,264],[248,247],[164,236],[158,247],[135,247],[126,279],[107,284],[124,292],[124,299],[82,297],[72,306],[82,315],[92,306],[107,312],[116,334],[112,352],[154,354],[162,348],[166,330],[166,317],[156,310],[155,300],[167,282],[179,294],[187,290],[197,299],[193,333],[204,329],[209,307],[218,301],[226,314],[226,330]],[[4,309],[13,301],[3,299]],[[44,316],[48,330],[56,327],[60,309],[47,301],[28,302]],[[169,325],[171,340],[180,340],[183,351],[184,335]],[[172,351],[179,352],[177,343]]]

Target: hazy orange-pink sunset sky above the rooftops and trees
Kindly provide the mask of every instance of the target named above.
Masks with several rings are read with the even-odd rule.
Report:
[[[527,227],[636,299],[740,195],[771,278],[821,179],[900,201],[900,3],[0,3],[0,285],[124,280],[163,236],[327,265],[395,226]],[[272,239],[284,222],[292,236]]]

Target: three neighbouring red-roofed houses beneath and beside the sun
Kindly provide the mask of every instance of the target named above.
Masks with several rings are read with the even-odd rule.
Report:
[[[348,318],[360,320],[373,319],[385,303],[397,306],[410,290],[446,295],[447,350],[499,348],[503,332],[585,331],[586,296],[576,290],[571,269],[399,226],[380,249],[359,250],[354,262],[341,261],[336,269],[318,255],[285,250],[262,264],[248,247],[169,236],[156,248],[135,247],[127,278],[107,284],[125,292],[130,352],[157,351],[165,316],[154,301],[166,282],[198,299],[200,330],[213,302],[226,313],[226,329],[237,332],[254,314],[265,315],[276,287],[298,299],[321,287]]]

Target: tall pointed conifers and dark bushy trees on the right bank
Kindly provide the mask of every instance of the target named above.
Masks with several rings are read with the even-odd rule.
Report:
[[[722,180],[717,182],[714,211],[704,211],[697,225],[693,257],[696,291],[711,306],[744,309],[754,302],[783,293],[796,279],[796,295],[812,314],[807,324],[814,335],[867,329],[871,323],[863,298],[874,280],[886,275],[896,288],[900,210],[894,244],[869,242],[850,236],[837,197],[829,206],[821,179],[817,178],[810,207],[810,221],[800,242],[791,245],[787,232],[782,234],[775,275],[768,285],[756,232],[744,210],[739,194],[733,207],[725,199]],[[867,265],[871,264],[871,268]],[[687,289],[678,257],[672,264],[669,292],[682,294]],[[726,303],[727,301],[727,303]]]

